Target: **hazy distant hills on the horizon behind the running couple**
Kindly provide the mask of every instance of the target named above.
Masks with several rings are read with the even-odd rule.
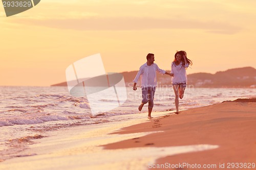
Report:
[[[167,70],[170,72],[169,70]],[[122,72],[126,86],[133,84],[138,71]],[[253,67],[233,68],[226,71],[218,71],[216,74],[199,72],[187,75],[188,85],[194,87],[216,87],[216,88],[256,88],[256,69]],[[161,85],[171,85],[168,75],[157,74],[158,83]],[[140,84],[140,82],[138,82]],[[54,84],[51,86],[67,86],[67,82]]]

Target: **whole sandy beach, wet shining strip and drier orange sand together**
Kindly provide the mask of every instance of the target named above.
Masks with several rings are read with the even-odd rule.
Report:
[[[255,99],[228,101],[152,120],[53,131],[0,169],[228,169],[231,163],[253,169],[255,108]]]

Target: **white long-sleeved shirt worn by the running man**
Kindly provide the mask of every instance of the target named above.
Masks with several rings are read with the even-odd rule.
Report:
[[[156,71],[161,74],[165,74],[165,70],[160,69],[156,63],[148,66],[146,63],[140,66],[140,69],[134,79],[134,83],[137,83],[140,77],[141,88],[142,87],[156,87],[157,86],[157,74]]]

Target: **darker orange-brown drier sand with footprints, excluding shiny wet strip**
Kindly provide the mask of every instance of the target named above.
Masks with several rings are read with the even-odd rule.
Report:
[[[219,148],[167,156],[158,159],[155,165],[185,162],[190,165],[216,164],[216,168],[208,169],[222,169],[219,166],[225,163],[225,169],[228,169],[228,163],[246,163],[247,165],[256,163],[255,101],[255,99],[239,99],[236,102],[227,101],[221,104],[189,109],[182,111],[179,115],[170,114],[152,119],[151,122],[126,127],[115,132],[115,134],[163,132],[106,144],[104,148],[121,149],[211,144],[219,145]],[[244,165],[240,164],[239,166],[239,168],[233,169],[248,169]],[[151,167],[149,169],[154,169]],[[176,169],[196,168],[179,167]]]

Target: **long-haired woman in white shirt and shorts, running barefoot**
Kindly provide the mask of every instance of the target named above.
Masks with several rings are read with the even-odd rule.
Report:
[[[189,66],[189,64],[192,65],[193,63],[187,58],[187,54],[185,51],[178,51],[174,55],[174,57],[175,58],[172,62],[172,70],[170,71],[170,73],[174,74],[174,76],[172,77],[172,84],[175,93],[175,113],[179,114],[179,98],[183,98],[187,84],[186,68]]]

